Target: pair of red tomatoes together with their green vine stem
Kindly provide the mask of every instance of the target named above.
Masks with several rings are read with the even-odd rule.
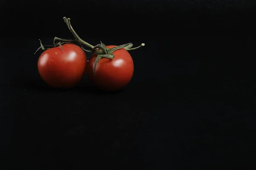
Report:
[[[76,34],[70,24],[70,18],[63,19],[75,39],[55,37],[53,46],[43,46],[40,41],[40,48],[43,50],[44,47],[53,47],[47,48],[38,59],[38,71],[44,81],[53,87],[70,88],[80,81],[86,70],[90,81],[103,90],[118,91],[128,85],[134,74],[134,62],[128,51],[145,44],[131,48],[132,43],[106,46],[100,42],[93,46]],[[84,49],[83,45],[89,49]],[[93,53],[88,63],[84,51]]]

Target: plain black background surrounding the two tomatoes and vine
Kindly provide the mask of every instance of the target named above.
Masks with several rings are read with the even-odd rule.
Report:
[[[253,169],[255,5],[2,0],[1,169]],[[42,81],[33,53],[38,39],[72,38],[64,16],[93,45],[145,42],[125,89]]]

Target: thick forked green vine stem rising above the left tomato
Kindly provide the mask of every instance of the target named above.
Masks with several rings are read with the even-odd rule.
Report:
[[[65,23],[67,24],[67,27],[69,28],[69,30],[72,32],[72,34],[74,35],[75,37],[75,40],[66,40],[66,39],[61,39],[61,38],[58,38],[58,37],[55,37],[54,40],[53,40],[53,44],[54,45],[57,45],[58,43],[57,42],[77,42],[81,45],[85,45],[89,48],[94,48],[93,45],[89,44],[88,42],[85,42],[84,40],[82,40],[78,34],[76,34],[76,31],[74,30],[74,28],[71,26],[71,23],[70,23],[70,18],[67,18],[67,17],[63,17]]]

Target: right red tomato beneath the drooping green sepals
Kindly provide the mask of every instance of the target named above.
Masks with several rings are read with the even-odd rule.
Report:
[[[108,45],[113,48],[116,45]],[[114,58],[102,58],[96,65],[94,75],[94,62],[96,54],[90,58],[87,65],[88,78],[97,87],[106,91],[117,91],[124,88],[130,81],[134,73],[134,63],[131,55],[124,48],[113,52]]]

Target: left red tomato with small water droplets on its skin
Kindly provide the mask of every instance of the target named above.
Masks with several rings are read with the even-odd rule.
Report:
[[[44,51],[38,59],[42,79],[54,88],[72,88],[84,76],[87,57],[75,44],[68,43]]]

